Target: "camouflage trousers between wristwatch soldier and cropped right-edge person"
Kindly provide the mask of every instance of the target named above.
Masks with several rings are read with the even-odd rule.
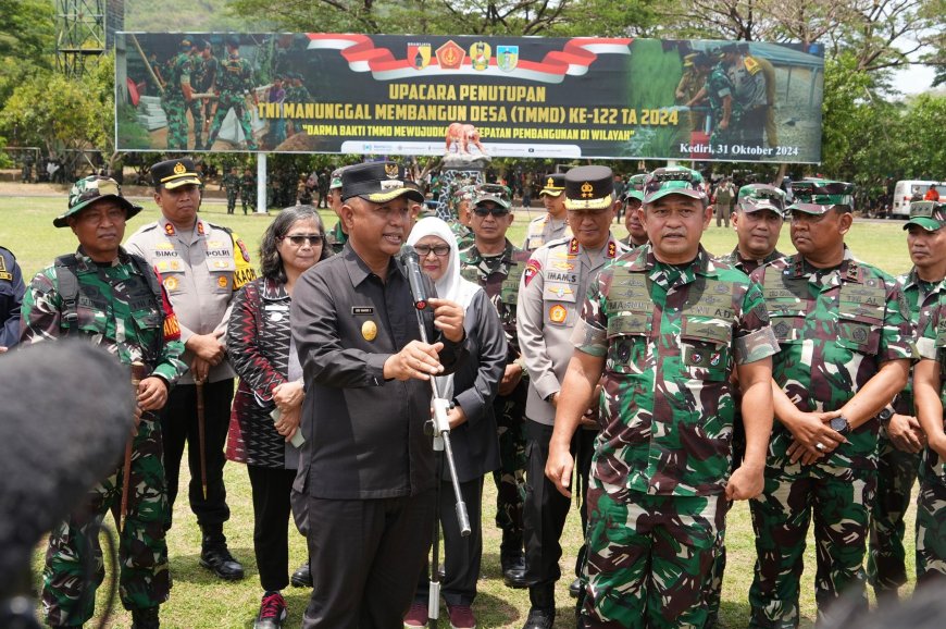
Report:
[[[881,428],[877,495],[871,509],[868,579],[874,591],[896,590],[907,582],[904,515],[917,480],[921,455],[901,452]]]

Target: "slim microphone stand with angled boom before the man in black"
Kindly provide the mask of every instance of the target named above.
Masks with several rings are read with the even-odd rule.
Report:
[[[426,303],[423,303],[426,305]],[[420,306],[420,304],[418,304]],[[418,328],[421,331],[421,341],[430,344],[427,341],[427,329],[424,325],[423,308],[416,309]],[[435,464],[435,480],[434,489],[434,543],[431,560],[431,588],[427,593],[427,626],[431,629],[437,627],[437,620],[440,617],[440,576],[439,576],[439,550],[440,550],[440,470],[443,468],[444,455],[447,457],[447,469],[450,472],[450,481],[453,484],[453,495],[457,497],[457,522],[460,525],[460,534],[464,538],[470,535],[470,517],[466,515],[466,503],[463,502],[463,494],[460,493],[460,480],[457,477],[457,465],[453,461],[453,448],[450,445],[450,422],[447,420],[447,411],[450,409],[450,400],[440,397],[440,391],[437,387],[437,379],[431,375],[431,387],[434,390],[434,398],[432,400],[433,417],[428,425],[433,427],[434,452],[440,453],[437,456]]]

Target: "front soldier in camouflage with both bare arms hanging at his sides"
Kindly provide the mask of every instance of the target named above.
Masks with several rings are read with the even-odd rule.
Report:
[[[688,169],[645,184],[650,239],[588,287],[546,476],[568,495],[568,443],[598,383],[580,627],[704,627],[702,588],[729,501],[762,490],[777,351],[761,288],[700,246],[710,220]],[[730,473],[733,372],[745,458]]]

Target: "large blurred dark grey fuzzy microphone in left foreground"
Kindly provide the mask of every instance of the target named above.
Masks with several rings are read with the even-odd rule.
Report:
[[[114,471],[132,432],[128,368],[80,341],[0,356],[0,600],[34,546]]]

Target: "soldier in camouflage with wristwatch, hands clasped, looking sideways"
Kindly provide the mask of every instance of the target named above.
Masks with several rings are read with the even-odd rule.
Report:
[[[797,627],[805,539],[814,518],[820,619],[842,593],[867,608],[863,558],[876,491],[877,414],[907,383],[909,308],[897,282],[844,243],[852,186],[796,192],[794,256],[757,269],[772,329],[775,417],[765,489],[750,503],[751,627]],[[859,596],[859,597],[858,597]]]

